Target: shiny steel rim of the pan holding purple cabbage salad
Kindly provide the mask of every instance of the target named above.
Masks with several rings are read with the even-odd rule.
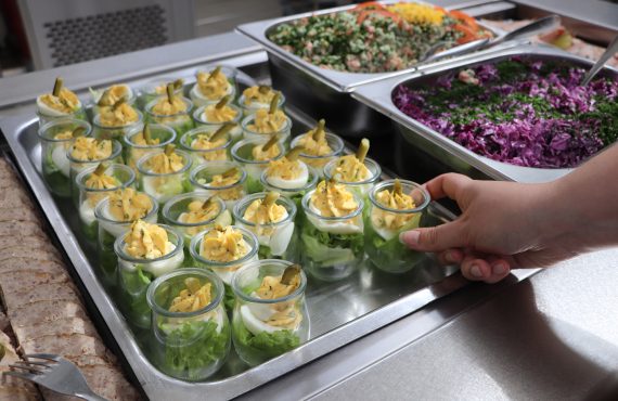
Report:
[[[403,127],[417,130],[426,137],[426,139],[432,140],[432,142],[442,150],[450,152],[451,154],[459,156],[465,163],[468,163],[473,167],[479,169],[480,171],[489,174],[493,179],[498,180],[513,180],[518,182],[543,182],[552,181],[559,177],[563,177],[574,170],[574,168],[556,168],[556,169],[542,169],[535,167],[522,167],[514,166],[502,161],[492,160],[488,157],[477,155],[476,153],[467,150],[466,147],[455,143],[454,141],[443,137],[439,132],[430,129],[429,127],[423,125],[419,120],[403,114],[399,108],[397,108],[391,100],[390,93],[399,85],[404,82],[413,81],[414,79],[422,78],[429,74],[439,74],[450,72],[469,64],[476,64],[484,61],[490,61],[497,57],[505,55],[517,55],[517,54],[538,54],[538,55],[555,55],[561,56],[566,60],[572,60],[578,62],[583,62],[587,64],[594,64],[594,62],[577,56],[575,54],[568,53],[566,51],[545,46],[545,44],[520,44],[517,47],[501,49],[498,52],[492,53],[477,53],[474,57],[460,59],[449,65],[435,66],[424,72],[416,72],[407,77],[390,77],[384,79],[379,82],[373,82],[358,88],[350,95],[357,101],[372,107],[373,109],[390,117],[396,122],[402,125]],[[616,72],[617,68],[606,66],[605,69]]]

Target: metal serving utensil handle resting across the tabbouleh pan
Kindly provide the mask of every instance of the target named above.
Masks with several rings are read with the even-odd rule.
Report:
[[[495,38],[493,40],[489,40],[487,38],[474,40],[472,42],[467,42],[462,46],[458,46],[456,48],[452,48],[446,50],[443,52],[437,53],[438,50],[446,43],[446,42],[438,42],[429,48],[427,52],[423,55],[422,63],[429,63],[436,62],[443,57],[452,57],[454,55],[465,54],[468,52],[473,52],[476,50],[485,50],[489,48],[493,48],[501,43],[511,41],[511,40],[518,40],[518,39],[526,39],[530,38],[535,35],[544,34],[552,29],[556,29],[561,25],[561,17],[557,15],[548,15],[537,21],[532,21],[529,24],[520,26],[519,28],[510,31],[508,34]]]

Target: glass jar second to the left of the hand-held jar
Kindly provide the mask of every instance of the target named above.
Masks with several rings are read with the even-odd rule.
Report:
[[[247,208],[258,199],[263,199],[267,192],[248,195],[234,206],[233,216],[236,225],[253,232],[258,238],[260,259],[285,259],[298,261],[298,235],[296,233],[296,204],[294,200],[280,197],[275,200],[287,211],[287,217],[275,223],[256,224],[244,218]]]

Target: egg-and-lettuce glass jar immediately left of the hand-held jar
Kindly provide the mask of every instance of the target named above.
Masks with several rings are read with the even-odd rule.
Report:
[[[363,203],[334,181],[322,181],[302,197],[302,264],[321,280],[350,275],[363,258]]]

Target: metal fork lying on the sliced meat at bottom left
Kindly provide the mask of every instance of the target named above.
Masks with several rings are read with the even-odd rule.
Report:
[[[51,353],[31,353],[24,357],[26,361],[10,364],[14,371],[4,372],[3,375],[34,381],[61,394],[75,396],[88,401],[106,401],[88,387],[83,374],[66,359]],[[30,361],[30,359],[44,362]]]

